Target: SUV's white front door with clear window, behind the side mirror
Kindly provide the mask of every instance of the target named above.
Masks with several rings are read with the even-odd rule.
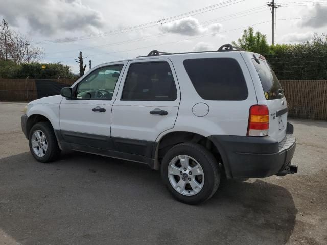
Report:
[[[62,100],[60,131],[64,141],[71,143],[73,149],[78,145],[112,148],[111,109],[116,84],[119,84],[126,63],[112,63],[91,71],[74,84],[74,99]]]

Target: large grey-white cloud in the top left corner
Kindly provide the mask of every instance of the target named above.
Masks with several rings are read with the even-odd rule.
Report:
[[[6,5],[0,8],[0,15],[10,25],[18,25],[18,20],[23,19],[29,31],[45,36],[62,31],[94,31],[104,24],[102,14],[83,5],[81,0],[10,0]]]

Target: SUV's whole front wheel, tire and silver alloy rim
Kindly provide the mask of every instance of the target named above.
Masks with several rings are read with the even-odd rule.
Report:
[[[39,162],[51,162],[59,157],[60,149],[50,122],[38,122],[29,134],[29,146],[33,157]]]

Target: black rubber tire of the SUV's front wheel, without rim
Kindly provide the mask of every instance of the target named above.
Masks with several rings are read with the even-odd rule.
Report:
[[[48,149],[45,152],[45,155],[42,157],[39,157],[35,154],[32,148],[32,135],[36,130],[41,130],[46,137],[46,141],[48,144]],[[37,124],[33,125],[33,127],[30,130],[29,133],[29,146],[30,146],[30,151],[33,155],[33,157],[43,163],[48,163],[52,162],[56,159],[58,159],[60,155],[60,149],[58,146],[57,138],[55,136],[55,132],[53,131],[52,125],[50,122],[38,122]]]

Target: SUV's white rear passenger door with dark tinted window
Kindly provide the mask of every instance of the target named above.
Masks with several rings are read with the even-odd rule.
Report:
[[[111,137],[116,150],[151,157],[157,136],[174,127],[179,101],[169,59],[130,61],[112,108]]]

